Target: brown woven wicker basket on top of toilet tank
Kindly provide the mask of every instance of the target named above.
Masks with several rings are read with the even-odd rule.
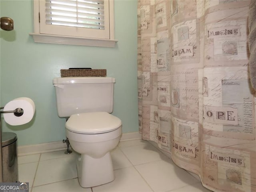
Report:
[[[99,76],[106,77],[106,69],[61,69],[61,77],[83,77],[83,76]]]

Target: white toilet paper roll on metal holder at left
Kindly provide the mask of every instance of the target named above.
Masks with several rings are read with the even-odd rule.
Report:
[[[14,113],[4,113],[4,120],[10,125],[23,125],[30,122],[35,114],[35,104],[27,97],[16,98],[4,106],[4,111],[12,111],[17,108],[23,109],[22,116],[15,116]]]

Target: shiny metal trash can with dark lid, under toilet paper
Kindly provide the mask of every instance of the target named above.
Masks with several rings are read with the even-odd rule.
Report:
[[[12,132],[2,132],[3,182],[18,182],[17,136]]]

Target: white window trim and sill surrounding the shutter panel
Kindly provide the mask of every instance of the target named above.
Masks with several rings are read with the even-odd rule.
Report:
[[[29,35],[33,36],[34,42],[36,43],[115,47],[116,42],[118,42],[118,40],[114,39],[114,0],[109,0],[110,39],[40,34],[38,13],[39,0],[34,0],[34,33],[30,33]]]

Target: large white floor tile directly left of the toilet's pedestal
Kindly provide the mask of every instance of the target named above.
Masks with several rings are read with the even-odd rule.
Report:
[[[76,178],[75,162],[74,156],[39,161],[34,186]]]

